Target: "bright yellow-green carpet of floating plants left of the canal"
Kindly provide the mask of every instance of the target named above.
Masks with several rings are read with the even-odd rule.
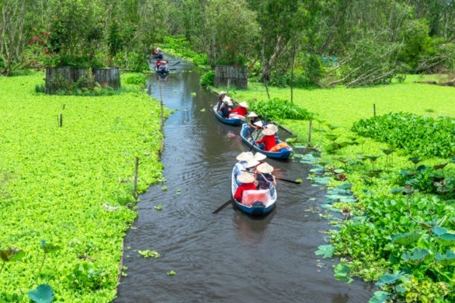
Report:
[[[44,95],[41,81],[0,77],[0,302],[40,284],[54,301],[110,302],[135,196],[162,180],[160,106],[138,90]]]

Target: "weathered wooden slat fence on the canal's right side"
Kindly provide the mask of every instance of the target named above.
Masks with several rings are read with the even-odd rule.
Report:
[[[215,66],[215,87],[234,86],[238,89],[248,88],[248,72],[244,66]]]

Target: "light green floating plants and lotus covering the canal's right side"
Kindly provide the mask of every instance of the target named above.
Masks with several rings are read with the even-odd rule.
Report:
[[[337,227],[328,231],[331,242],[321,249],[324,252],[319,253],[331,251],[331,254],[325,255],[324,258],[330,258],[333,254],[346,258],[341,264],[347,266],[344,267],[345,272],[341,278],[360,277],[366,281],[377,281],[385,273],[395,273],[393,268],[398,270],[411,267],[411,274],[403,276],[401,280],[398,280],[400,276],[396,277],[397,283],[401,283],[404,289],[404,295],[412,298],[413,293],[420,292],[423,296],[431,297],[429,288],[424,285],[432,285],[438,289],[440,296],[449,298],[453,294],[444,288],[450,288],[448,286],[450,279],[440,281],[434,280],[432,276],[433,272],[434,274],[453,272],[453,265],[445,269],[436,269],[431,273],[423,270],[420,265],[438,267],[439,261],[435,258],[439,258],[438,254],[446,254],[446,251],[453,247],[450,243],[437,244],[438,235],[429,231],[432,226],[438,224],[444,230],[455,227],[453,221],[445,220],[455,216],[453,195],[444,194],[442,190],[437,191],[435,186],[441,186],[440,183],[433,186],[436,178],[445,180],[442,185],[446,186],[445,192],[447,190],[453,192],[455,181],[453,158],[422,157],[418,150],[406,151],[360,137],[351,131],[353,123],[360,119],[368,120],[375,115],[388,113],[406,112],[453,119],[455,116],[452,102],[453,87],[414,83],[416,79],[417,76],[408,76],[404,83],[369,88],[294,89],[293,102],[314,113],[315,119],[311,124],[308,121],[295,120],[277,122],[295,134],[298,138],[297,144],[311,146],[317,150],[316,153],[314,149],[307,150],[309,157],[302,161],[313,167],[313,174],[308,178],[315,183],[324,180],[322,184],[320,183],[321,187],[331,193],[327,195],[327,204],[321,206],[321,215],[328,218],[331,225]],[[259,83],[249,83],[248,90],[230,89],[230,95],[238,102],[246,101],[253,104],[268,99],[267,91]],[[289,88],[268,87],[268,93],[270,98],[290,100]],[[420,130],[416,128],[415,131],[417,136]],[[452,130],[452,144],[455,143],[454,136]],[[340,144],[343,147],[338,146],[339,149],[330,150],[335,140],[337,143],[345,143]],[[455,150],[452,149],[453,151]],[[420,167],[417,171],[416,162]],[[401,193],[404,185],[409,187],[404,192],[406,195],[397,195]],[[346,197],[343,197],[344,192]],[[347,193],[354,199],[349,199]],[[327,209],[330,212],[327,212]],[[331,215],[333,212],[340,213],[341,218]],[[420,225],[425,224],[424,222],[433,223],[422,230]],[[393,243],[392,237],[402,236],[405,232],[423,235],[426,244],[412,242],[413,245],[403,250],[399,244]],[[435,245],[432,252],[425,249],[428,243]],[[413,249],[425,249],[429,257],[411,266],[406,261],[403,251],[408,250],[406,254],[412,254],[413,251],[417,251]],[[391,261],[391,255],[397,261]],[[450,262],[444,264],[447,263],[450,264]],[[381,285],[391,292],[390,295],[394,293],[388,283]]]

